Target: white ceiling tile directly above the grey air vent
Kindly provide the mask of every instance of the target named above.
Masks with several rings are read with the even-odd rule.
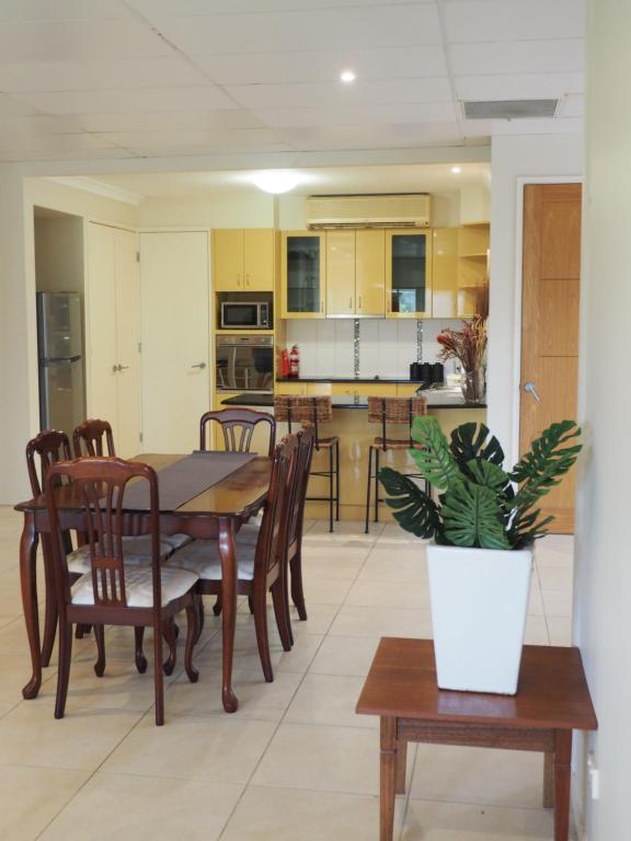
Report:
[[[583,91],[582,73],[463,76],[455,79],[461,100],[540,100]]]

